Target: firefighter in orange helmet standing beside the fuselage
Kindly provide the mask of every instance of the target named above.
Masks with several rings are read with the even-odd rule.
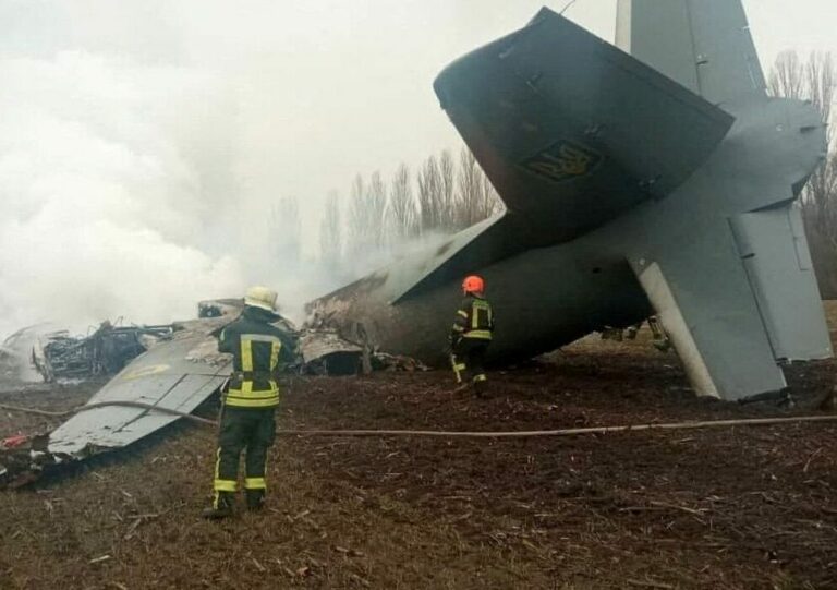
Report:
[[[465,277],[462,292],[465,297],[450,330],[450,360],[457,383],[462,383],[462,373],[466,372],[476,395],[482,397],[487,382],[483,364],[494,334],[494,311],[485,300],[485,281],[482,277]]]

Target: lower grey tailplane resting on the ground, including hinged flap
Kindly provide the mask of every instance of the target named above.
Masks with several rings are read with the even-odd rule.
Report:
[[[778,362],[832,356],[793,204],[694,224],[629,262],[699,394],[780,390]]]

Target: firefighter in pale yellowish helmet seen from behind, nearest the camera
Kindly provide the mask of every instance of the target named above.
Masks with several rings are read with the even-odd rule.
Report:
[[[242,450],[247,508],[258,510],[265,499],[267,449],[274,443],[279,405],[277,373],[294,359],[291,337],[270,325],[279,318],[276,297],[266,287],[248,289],[241,316],[218,337],[218,350],[232,354],[233,373],[221,402],[213,507],[204,511],[206,518],[232,514]]]

